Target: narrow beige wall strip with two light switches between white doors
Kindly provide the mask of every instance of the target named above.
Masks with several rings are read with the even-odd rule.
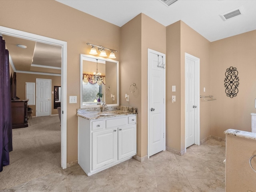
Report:
[[[166,146],[181,151],[180,22],[166,27],[166,52]],[[172,85],[176,85],[174,103]]]

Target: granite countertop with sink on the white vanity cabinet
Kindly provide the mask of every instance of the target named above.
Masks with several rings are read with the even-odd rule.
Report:
[[[127,106],[111,106],[108,107],[105,112],[102,113],[100,108],[80,108],[77,109],[77,116],[82,117],[88,120],[101,119],[101,118],[109,118],[109,117],[117,117],[117,116],[125,116],[137,114],[136,107],[127,107]],[[104,116],[102,114],[113,113],[111,115]]]

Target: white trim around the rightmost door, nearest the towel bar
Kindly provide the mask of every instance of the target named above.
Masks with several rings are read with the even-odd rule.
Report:
[[[200,145],[200,58],[197,58],[185,52],[185,68],[186,68],[187,58],[195,62],[195,106],[197,109],[195,110],[195,144]],[[186,87],[185,87],[185,92],[186,92]],[[185,108],[185,111],[186,111],[186,108]],[[185,116],[185,120],[186,120],[186,116]],[[186,127],[185,127],[185,146],[186,146]],[[185,151],[186,151],[186,147],[185,147]]]

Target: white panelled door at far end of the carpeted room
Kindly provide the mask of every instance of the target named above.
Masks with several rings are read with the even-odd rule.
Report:
[[[36,116],[50,116],[52,80],[36,79]]]

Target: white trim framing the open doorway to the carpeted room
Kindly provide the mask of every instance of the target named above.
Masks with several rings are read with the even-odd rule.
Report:
[[[57,45],[62,47],[62,64],[61,64],[61,166],[63,169],[67,167],[67,42],[48,38],[16,29],[0,26],[0,34],[24,38],[37,42]]]

